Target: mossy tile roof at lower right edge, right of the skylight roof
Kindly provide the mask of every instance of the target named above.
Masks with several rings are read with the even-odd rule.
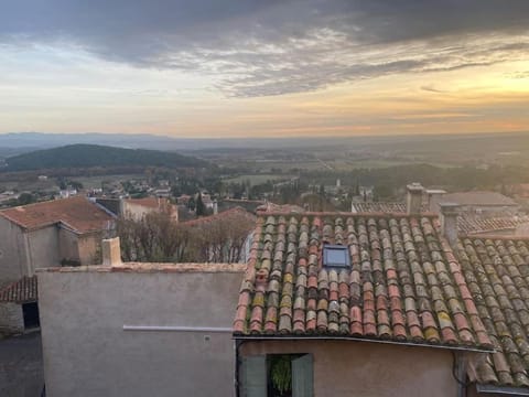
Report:
[[[456,253],[497,350],[471,372],[471,379],[529,387],[529,240],[464,238]]]

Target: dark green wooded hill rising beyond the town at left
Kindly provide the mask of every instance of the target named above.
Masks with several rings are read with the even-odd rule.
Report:
[[[173,152],[121,149],[99,144],[69,144],[6,159],[2,171],[31,171],[94,167],[202,168],[209,163]]]

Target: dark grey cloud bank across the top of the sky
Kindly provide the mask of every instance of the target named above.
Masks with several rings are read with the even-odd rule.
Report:
[[[18,0],[0,43],[212,75],[229,96],[527,58],[526,0]]]

